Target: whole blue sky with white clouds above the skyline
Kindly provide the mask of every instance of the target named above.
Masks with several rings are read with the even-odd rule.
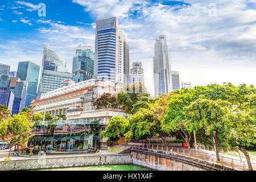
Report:
[[[38,4],[46,4],[46,17]],[[212,4],[216,14],[212,14]],[[148,92],[155,37],[167,35],[171,68],[192,85],[243,82],[256,85],[256,0],[0,2],[0,63],[16,70],[19,61],[41,65],[43,46],[55,49],[72,70],[77,45],[94,44],[95,22],[118,17],[128,35],[130,62],[142,61]]]

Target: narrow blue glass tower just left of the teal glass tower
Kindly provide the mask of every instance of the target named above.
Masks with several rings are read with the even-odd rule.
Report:
[[[11,77],[10,90],[14,93],[12,114],[18,114],[25,107],[27,97],[27,81],[20,81],[18,77]]]

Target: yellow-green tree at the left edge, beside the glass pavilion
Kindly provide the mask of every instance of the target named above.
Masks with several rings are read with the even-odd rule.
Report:
[[[10,147],[9,158],[13,146],[20,146],[33,136],[31,135],[32,127],[33,123],[28,121],[24,114],[14,114],[10,119],[0,123],[0,139]]]

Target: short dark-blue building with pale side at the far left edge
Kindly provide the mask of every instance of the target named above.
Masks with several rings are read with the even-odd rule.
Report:
[[[13,109],[14,94],[9,87],[0,87],[0,105],[6,105],[9,110]]]

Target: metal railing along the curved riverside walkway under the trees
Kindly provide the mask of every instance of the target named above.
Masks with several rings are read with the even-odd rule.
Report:
[[[232,168],[233,170],[248,170],[248,164],[245,160],[237,160],[234,158],[228,158],[226,156],[220,156],[220,161],[217,161],[216,155],[209,154],[209,152],[204,151],[198,151],[198,150],[188,150],[187,148],[181,148],[181,147],[166,147],[166,146],[160,146],[156,144],[150,144],[149,146],[147,144],[141,145],[135,145],[133,148],[139,148],[142,150],[156,150],[168,152],[172,154],[178,154],[183,156],[188,156],[191,159],[197,159],[202,160],[204,162],[213,163],[219,166]],[[256,169],[256,163],[251,162],[251,165],[254,169]]]

